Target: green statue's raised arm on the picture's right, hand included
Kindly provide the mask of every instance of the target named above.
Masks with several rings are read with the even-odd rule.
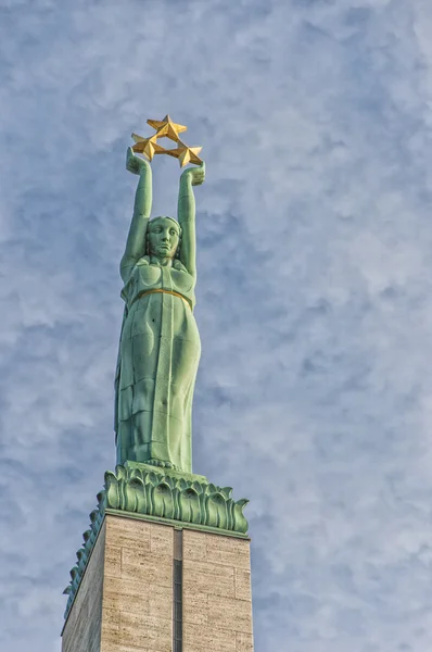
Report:
[[[201,186],[205,179],[205,163],[200,167],[185,170],[180,177],[178,193],[178,222],[181,226],[180,261],[189,274],[196,277],[195,198],[192,186]]]

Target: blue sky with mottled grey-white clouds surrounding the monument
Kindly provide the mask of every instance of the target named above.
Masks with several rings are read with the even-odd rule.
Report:
[[[431,33],[429,0],[0,0],[2,652],[61,647],[125,152],[167,112],[207,163],[194,471],[251,499],[256,650],[431,649]]]

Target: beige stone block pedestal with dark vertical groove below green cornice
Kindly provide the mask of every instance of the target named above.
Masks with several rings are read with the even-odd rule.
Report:
[[[106,510],[62,637],[62,652],[253,652],[249,539]]]

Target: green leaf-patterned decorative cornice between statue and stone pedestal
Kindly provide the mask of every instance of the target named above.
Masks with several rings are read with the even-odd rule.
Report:
[[[249,500],[234,502],[231,492],[231,487],[216,487],[204,476],[138,462],[117,466],[115,474],[107,471],[105,488],[98,493],[98,509],[90,514],[91,529],[82,535],[85,544],[77,552],[78,563],[64,591],[68,594],[64,617],[71,611],[105,511],[243,538],[247,532],[243,509]]]

